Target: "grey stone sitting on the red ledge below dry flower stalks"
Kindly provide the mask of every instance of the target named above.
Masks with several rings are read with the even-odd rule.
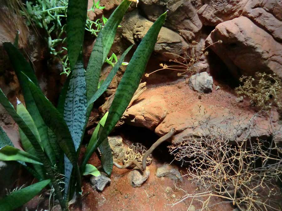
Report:
[[[212,92],[212,76],[209,76],[207,72],[196,73],[189,78],[189,87],[199,93]]]

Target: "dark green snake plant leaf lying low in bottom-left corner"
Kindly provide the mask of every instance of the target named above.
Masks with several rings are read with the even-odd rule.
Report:
[[[15,210],[24,203],[29,202],[34,196],[40,193],[40,191],[50,183],[50,179],[46,179],[30,185],[26,188],[21,188],[17,191],[13,191],[0,200],[0,210],[10,211]]]

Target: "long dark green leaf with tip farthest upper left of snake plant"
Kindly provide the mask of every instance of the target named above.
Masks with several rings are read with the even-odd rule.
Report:
[[[47,154],[51,164],[54,165],[56,163],[56,158],[53,148],[49,143],[48,128],[45,125],[38,111],[38,108],[34,102],[34,99],[30,93],[29,87],[27,86],[27,79],[22,74],[24,73],[37,87],[39,87],[37,78],[34,74],[34,70],[31,67],[31,65],[26,61],[24,56],[20,53],[20,51],[12,43],[4,43],[3,46],[8,53],[10,61],[12,61],[11,63],[13,65],[13,68],[15,70],[15,73],[18,77],[19,83],[22,88],[26,108],[30,113],[31,117],[33,118],[34,123],[38,129],[40,140],[42,142],[44,151]]]

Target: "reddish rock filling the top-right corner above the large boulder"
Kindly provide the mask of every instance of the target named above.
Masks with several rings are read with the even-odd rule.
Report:
[[[243,10],[243,15],[256,25],[269,32],[274,39],[282,41],[282,1],[279,0],[249,0]]]

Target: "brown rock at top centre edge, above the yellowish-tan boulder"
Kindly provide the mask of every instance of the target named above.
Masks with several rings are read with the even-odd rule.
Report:
[[[177,31],[189,41],[195,39],[202,28],[196,10],[199,4],[199,1],[187,0],[140,0],[142,12],[150,21],[155,21],[168,10],[165,27]]]

